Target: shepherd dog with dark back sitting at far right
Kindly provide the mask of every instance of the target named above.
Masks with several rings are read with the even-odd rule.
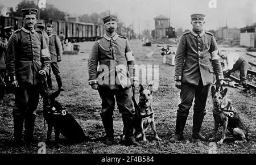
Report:
[[[235,143],[247,142],[248,135],[247,129],[236,108],[232,106],[232,103],[225,98],[228,89],[223,90],[222,86],[212,86],[210,90],[213,99],[213,117],[214,117],[214,130],[213,137],[209,138],[209,141],[214,141],[216,139],[216,133],[218,130],[218,125],[221,124],[223,127],[222,136],[218,144],[222,144],[224,139],[226,139],[226,129],[229,130],[233,135],[233,139],[236,139]]]

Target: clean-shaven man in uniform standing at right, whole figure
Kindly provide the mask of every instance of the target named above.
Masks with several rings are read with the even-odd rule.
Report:
[[[181,103],[177,109],[175,136],[170,139],[171,142],[183,139],[183,130],[194,98],[192,138],[205,140],[200,129],[214,74],[218,83],[223,83],[217,43],[213,34],[203,29],[204,17],[203,14],[191,15],[192,31],[183,33],[176,51],[175,86],[181,90]]]

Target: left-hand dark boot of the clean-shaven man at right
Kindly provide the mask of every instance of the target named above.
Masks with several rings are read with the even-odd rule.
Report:
[[[175,135],[170,139],[171,143],[179,142],[184,139],[183,130],[185,128],[187,117],[188,115],[180,115],[179,113],[177,113]]]

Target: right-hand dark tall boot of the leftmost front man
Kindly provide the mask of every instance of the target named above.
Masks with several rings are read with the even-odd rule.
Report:
[[[25,126],[25,137],[24,141],[26,145],[31,145],[31,143],[38,143],[38,139],[36,139],[34,134],[34,126],[35,126],[35,118],[36,115],[34,113],[26,113],[24,119],[24,126]]]

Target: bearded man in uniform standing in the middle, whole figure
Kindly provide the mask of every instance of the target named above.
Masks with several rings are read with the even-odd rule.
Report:
[[[106,132],[106,144],[113,145],[113,111],[115,100],[125,129],[125,143],[138,145],[133,136],[133,104],[131,85],[137,84],[135,58],[126,37],[115,33],[117,18],[102,18],[105,34],[96,39],[88,60],[89,85],[98,90],[102,99],[101,118]],[[98,70],[98,62],[100,64]],[[115,98],[114,98],[115,96]]]

